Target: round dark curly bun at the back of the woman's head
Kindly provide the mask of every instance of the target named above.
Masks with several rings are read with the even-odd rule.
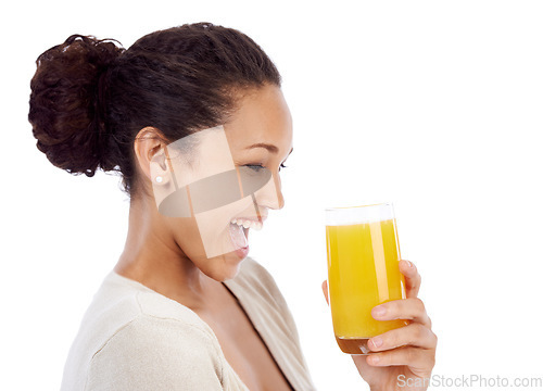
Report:
[[[124,51],[112,40],[73,35],[43,52],[30,81],[30,111],[38,149],[72,174],[113,169],[104,124],[106,71]]]

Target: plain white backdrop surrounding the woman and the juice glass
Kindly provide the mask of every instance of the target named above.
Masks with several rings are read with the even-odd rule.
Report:
[[[540,1],[43,1],[3,20],[0,389],[59,389],[127,228],[117,177],[71,176],[36,149],[36,58],[75,33],[128,47],[199,21],[244,31],[283,76],[287,203],[251,234],[252,255],[289,302],[317,388],[366,388],[320,291],[324,209],[375,201],[394,202],[422,275],[434,374],[543,377]]]

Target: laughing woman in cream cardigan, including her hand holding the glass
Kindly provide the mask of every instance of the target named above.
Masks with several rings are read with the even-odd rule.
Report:
[[[37,64],[38,149],[70,173],[119,172],[130,197],[125,250],[85,315],[63,390],[314,389],[281,294],[247,257],[249,230],[282,207],[279,171],[292,152],[280,76],[262,49],[199,23],[127,50],[72,36]],[[375,338],[382,353],[353,356],[372,389],[433,367],[409,265],[409,299],[375,316],[413,323]]]

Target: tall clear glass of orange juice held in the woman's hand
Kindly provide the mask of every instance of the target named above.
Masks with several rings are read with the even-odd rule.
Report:
[[[328,292],[333,333],[349,354],[368,354],[369,338],[407,320],[376,320],[371,308],[405,299],[392,203],[326,210]]]

